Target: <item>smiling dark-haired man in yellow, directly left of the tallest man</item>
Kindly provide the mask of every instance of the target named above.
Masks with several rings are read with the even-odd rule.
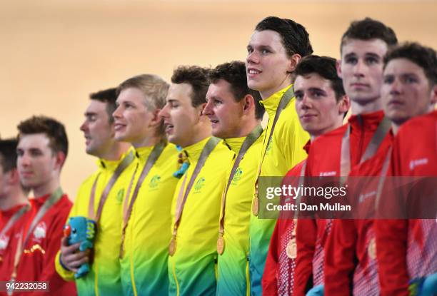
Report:
[[[223,144],[233,152],[221,200],[217,295],[248,295],[248,226],[264,109],[258,91],[247,86],[243,62],[216,66],[209,80],[204,114],[211,121],[213,135],[223,138]]]

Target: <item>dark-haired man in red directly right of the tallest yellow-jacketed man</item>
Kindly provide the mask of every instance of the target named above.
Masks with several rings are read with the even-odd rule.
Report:
[[[349,108],[341,78],[336,73],[336,60],[308,56],[296,68],[293,85],[299,121],[311,139],[341,126]],[[304,149],[308,153],[310,142]],[[283,183],[297,186],[303,175],[305,160],[288,171]],[[291,200],[283,200],[291,203]],[[280,213],[273,231],[262,286],[263,295],[293,295],[296,267],[296,224],[293,214]]]

